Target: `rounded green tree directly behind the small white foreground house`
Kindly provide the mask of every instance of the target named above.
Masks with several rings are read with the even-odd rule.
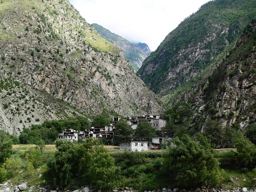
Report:
[[[147,120],[140,121],[137,129],[135,130],[135,140],[151,141],[152,137],[156,137],[156,130]]]

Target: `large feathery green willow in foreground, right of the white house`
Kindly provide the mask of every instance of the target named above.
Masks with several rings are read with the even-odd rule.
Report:
[[[176,173],[177,185],[196,187],[202,185],[219,186],[224,177],[214,157],[215,151],[203,135],[193,141],[184,134],[181,140],[175,137],[165,157],[165,167]]]

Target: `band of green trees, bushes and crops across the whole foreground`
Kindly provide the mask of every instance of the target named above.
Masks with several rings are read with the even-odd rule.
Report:
[[[2,133],[1,138],[11,141],[12,146],[9,135]],[[166,186],[195,189],[210,185],[232,189],[246,184],[249,189],[253,187],[250,181],[255,177],[256,147],[241,133],[236,137],[237,150],[216,151],[201,134],[195,139],[187,134],[181,139],[175,137],[164,151],[124,152],[117,149],[109,152],[115,147],[104,147],[99,143],[98,139],[88,138],[86,143],[57,140],[56,148],[44,145],[44,142],[15,145],[0,165],[0,180],[11,179],[12,183],[27,180],[29,185],[46,180],[50,186],[60,185],[70,190],[79,189],[82,183],[101,191],[115,187],[131,187],[139,191]],[[43,174],[39,180],[31,174],[38,167]],[[245,168],[252,170],[239,176]],[[17,174],[20,170],[25,173]],[[246,178],[246,182],[240,183],[239,179],[232,183],[229,181],[231,177],[242,177],[241,181]]]

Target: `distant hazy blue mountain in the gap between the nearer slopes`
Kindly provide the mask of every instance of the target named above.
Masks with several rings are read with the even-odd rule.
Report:
[[[92,26],[95,27],[103,38],[122,49],[125,58],[129,60],[130,65],[135,71],[139,70],[143,61],[151,52],[147,44],[132,44],[121,36],[110,32],[108,29],[105,29],[96,23],[93,23]]]

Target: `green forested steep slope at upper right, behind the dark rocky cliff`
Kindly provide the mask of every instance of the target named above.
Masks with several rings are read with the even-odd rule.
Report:
[[[166,36],[137,75],[154,93],[170,93],[206,69],[255,16],[254,0],[210,1]]]

